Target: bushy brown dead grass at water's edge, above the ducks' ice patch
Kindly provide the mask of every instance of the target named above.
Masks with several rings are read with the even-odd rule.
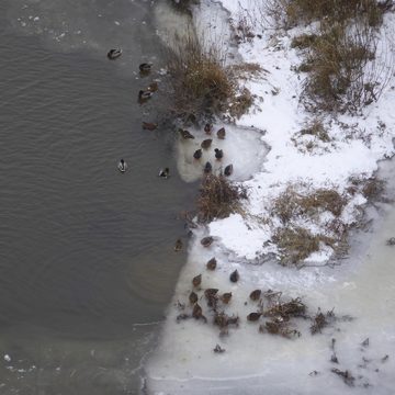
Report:
[[[172,92],[172,113],[187,120],[200,120],[229,111],[240,117],[252,104],[247,88],[239,87],[240,72],[256,74],[257,66],[227,66],[226,53],[215,44],[207,49],[204,40],[189,35],[176,41],[168,53],[169,91]]]

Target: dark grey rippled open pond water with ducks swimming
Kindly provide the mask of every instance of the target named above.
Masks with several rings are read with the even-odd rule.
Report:
[[[0,3],[0,393],[134,394],[184,253],[173,134],[142,121],[155,1]],[[123,56],[110,61],[111,47]],[[160,86],[160,82],[159,82]],[[120,158],[128,163],[124,174]]]

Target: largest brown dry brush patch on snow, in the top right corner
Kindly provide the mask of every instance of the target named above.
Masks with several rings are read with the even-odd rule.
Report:
[[[376,61],[377,29],[392,1],[280,0],[262,7],[283,29],[316,23],[291,43],[304,54],[298,71],[308,74],[302,93],[307,109],[356,113],[379,99],[391,71]],[[388,54],[380,55],[391,66]]]

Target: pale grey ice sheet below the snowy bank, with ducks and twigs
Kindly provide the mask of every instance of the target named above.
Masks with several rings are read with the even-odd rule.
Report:
[[[394,250],[385,240],[394,235],[395,211],[386,218],[383,230],[371,241],[363,256],[343,261],[342,268],[311,268],[295,271],[276,264],[246,266],[232,262],[221,252],[221,240],[208,249],[200,245],[203,234],[192,242],[190,259],[176,290],[160,347],[148,364],[148,388],[153,394],[391,394],[395,384],[395,261]],[[215,256],[217,270],[208,272],[205,262]],[[229,273],[237,269],[240,281],[229,282]],[[181,313],[191,313],[188,296],[191,279],[203,274],[202,291],[217,287],[232,292],[233,300],[225,312],[240,317],[238,328],[229,329],[221,338],[212,324],[204,296],[199,302],[207,324],[193,318],[177,323]],[[352,321],[339,320],[323,334],[309,334],[309,320],[297,320],[302,337],[284,339],[259,334],[257,323],[246,320],[257,311],[257,303],[248,298],[256,289],[283,291],[290,297],[302,296],[309,313],[317,307],[324,312],[335,307],[340,316],[350,315]],[[178,302],[185,309],[177,307]],[[247,303],[247,304],[245,304]],[[262,323],[262,321],[260,321]],[[336,339],[339,363],[330,362],[331,339]],[[369,346],[361,343],[366,338]],[[224,353],[213,352],[218,343]],[[385,356],[390,356],[385,359]],[[347,386],[331,369],[349,370],[354,387]],[[317,373],[312,373],[316,371]],[[309,374],[312,373],[312,374]]]

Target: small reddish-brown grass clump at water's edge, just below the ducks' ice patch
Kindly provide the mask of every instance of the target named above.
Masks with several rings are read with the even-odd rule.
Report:
[[[225,176],[207,174],[200,188],[198,218],[200,222],[225,218],[238,210],[240,199],[245,198],[246,191],[232,184]]]

